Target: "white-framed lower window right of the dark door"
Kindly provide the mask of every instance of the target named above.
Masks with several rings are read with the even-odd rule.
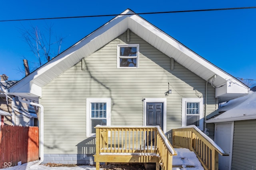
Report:
[[[203,130],[203,98],[182,98],[182,126],[196,125]]]

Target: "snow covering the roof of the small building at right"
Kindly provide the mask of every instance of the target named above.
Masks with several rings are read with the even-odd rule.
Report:
[[[256,119],[256,92],[250,91],[247,96],[230,100],[217,111],[223,113],[206,123]]]

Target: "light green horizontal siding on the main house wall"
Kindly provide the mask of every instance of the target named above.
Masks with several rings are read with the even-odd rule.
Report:
[[[139,68],[117,68],[117,45],[126,33],[79,62],[42,89],[44,152],[87,153],[78,149],[86,138],[86,98],[111,98],[111,125],[143,125],[143,98],[167,98],[167,133],[181,126],[182,98],[204,97],[206,81],[174,62],[130,32],[131,44],[140,44]],[[172,94],[166,96],[168,82]],[[208,86],[208,109],[216,109],[214,88]],[[170,135],[168,135],[170,137]],[[90,150],[90,151],[88,151]]]

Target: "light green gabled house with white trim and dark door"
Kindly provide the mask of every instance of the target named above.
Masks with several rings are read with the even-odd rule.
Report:
[[[248,87],[125,10],[12,87],[40,108],[42,162],[93,164],[96,125],[196,125]]]

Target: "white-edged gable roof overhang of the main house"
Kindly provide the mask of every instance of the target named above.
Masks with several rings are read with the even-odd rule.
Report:
[[[42,96],[41,88],[43,86],[81,61],[82,58],[91,55],[124,33],[127,29],[130,29],[168,57],[174,58],[176,62],[202,79],[212,82],[213,86],[218,87],[216,88],[216,98],[230,100],[248,93],[248,87],[236,78],[200,57],[129,9],[14,84],[9,88],[9,92],[16,96],[38,100],[38,96]],[[216,75],[216,78],[213,79],[214,75]]]

